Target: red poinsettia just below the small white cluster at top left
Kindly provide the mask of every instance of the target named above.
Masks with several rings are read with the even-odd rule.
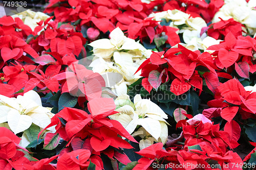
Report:
[[[49,20],[46,20],[43,26],[41,26],[40,23],[38,23],[38,25],[38,31],[47,25],[45,31],[42,31],[40,35],[36,35],[36,38],[30,41],[32,47],[37,49],[38,52],[42,53],[50,48],[52,53],[58,53],[60,55],[59,57],[62,59],[71,54],[78,56],[82,51],[86,53],[83,47],[86,43],[86,39],[83,38],[81,33],[75,32],[74,26],[66,24],[58,27],[58,22],[49,22]],[[36,31],[35,34],[37,34]],[[53,55],[53,57],[55,56],[56,55]],[[58,58],[56,59],[58,60]]]

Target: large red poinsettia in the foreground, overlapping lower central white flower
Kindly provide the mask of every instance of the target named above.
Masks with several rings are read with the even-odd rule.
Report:
[[[91,114],[79,109],[64,108],[51,119],[51,124],[47,128],[57,125],[55,127],[57,133],[62,139],[69,141],[68,145],[71,144],[71,149],[67,148],[60,153],[60,163],[57,169],[66,166],[67,160],[70,162],[69,166],[86,169],[90,163],[89,157],[97,165],[97,169],[101,169],[103,168],[101,153],[110,159],[115,157],[123,164],[131,162],[125,154],[120,153],[118,148],[131,149],[133,147],[118,135],[134,142],[137,141],[118,121],[106,117],[116,113],[115,108],[113,99],[98,98],[88,103],[88,110]],[[82,153],[81,159],[77,160],[75,158],[79,153]]]

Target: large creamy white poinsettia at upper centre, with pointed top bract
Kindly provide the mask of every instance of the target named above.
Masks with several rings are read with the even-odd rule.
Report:
[[[141,72],[136,72],[140,64],[149,58],[151,50],[146,50],[139,42],[124,36],[122,30],[114,29],[110,39],[99,39],[90,43],[93,47],[93,62],[90,64],[94,72],[118,72],[123,80],[112,89],[116,95],[127,93],[127,85],[140,78]]]

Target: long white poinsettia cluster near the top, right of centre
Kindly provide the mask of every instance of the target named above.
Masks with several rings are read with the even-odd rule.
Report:
[[[149,17],[154,17],[154,20],[161,21],[165,19],[166,22],[170,21],[169,26],[179,28],[177,32],[183,33],[183,40],[185,43],[181,45],[188,48],[188,50],[204,50],[214,44],[219,44],[221,40],[216,40],[212,37],[206,36],[204,33],[200,35],[201,29],[207,27],[206,22],[201,17],[191,17],[190,14],[184,13],[180,10],[167,10],[158,13],[152,13]],[[207,51],[210,52],[210,51]]]

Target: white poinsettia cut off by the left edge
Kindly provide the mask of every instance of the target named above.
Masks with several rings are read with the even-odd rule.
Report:
[[[53,116],[49,109],[42,107],[40,96],[33,90],[17,98],[0,95],[0,124],[7,122],[15,134],[25,131],[32,123],[45,128]]]

